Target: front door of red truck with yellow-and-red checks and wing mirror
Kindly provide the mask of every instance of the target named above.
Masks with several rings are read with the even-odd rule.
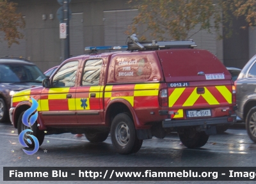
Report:
[[[51,77],[51,87],[42,89],[41,112],[45,125],[74,124],[76,78],[79,61],[68,61]]]

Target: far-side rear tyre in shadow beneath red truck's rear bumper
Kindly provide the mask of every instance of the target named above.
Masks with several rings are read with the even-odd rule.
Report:
[[[185,129],[183,134],[179,134],[180,141],[187,148],[200,148],[206,144],[209,135],[205,132],[196,132],[193,129]]]

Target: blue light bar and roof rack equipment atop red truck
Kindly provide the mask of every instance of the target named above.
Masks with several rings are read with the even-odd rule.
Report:
[[[161,50],[161,49],[170,49],[177,47],[186,47],[186,48],[194,48],[196,47],[196,43],[193,40],[186,41],[156,41],[152,40],[152,42],[139,42],[136,34],[132,34],[129,36],[130,38],[127,45],[121,46],[99,46],[99,47],[85,47],[84,50],[90,50],[91,53],[95,53],[98,50]]]

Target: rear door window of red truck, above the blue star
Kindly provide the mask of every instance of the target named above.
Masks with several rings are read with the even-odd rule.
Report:
[[[82,86],[97,86],[100,80],[100,68],[102,59],[86,61],[83,69]]]

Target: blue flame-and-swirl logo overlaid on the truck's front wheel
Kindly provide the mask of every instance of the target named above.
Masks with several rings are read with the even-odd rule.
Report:
[[[22,123],[24,125],[26,125],[27,127],[30,127],[30,129],[32,129],[32,125],[34,125],[34,123],[36,122],[36,119],[38,117],[38,112],[36,111],[37,107],[38,107],[38,103],[36,102],[36,100],[34,98],[31,98],[32,100],[32,105],[31,107],[24,112],[23,116],[22,116]],[[36,111],[36,112],[35,112]],[[33,112],[35,112],[35,114],[33,114]],[[30,119],[29,119],[29,116],[33,114]],[[26,148],[29,148],[29,146],[26,144],[26,142],[24,141],[24,137],[25,136],[29,136],[33,139],[33,141],[35,142],[35,148],[33,151],[27,151],[25,149],[22,149],[27,155],[33,155],[34,153],[36,153],[39,149],[39,142],[38,142],[38,139],[34,136],[34,135],[30,135],[30,134],[27,134],[28,132],[32,133],[33,131],[30,130],[30,129],[26,129],[26,130],[23,130],[22,132],[20,132],[20,135],[19,135],[19,142],[22,146],[26,147]],[[26,134],[26,135],[25,135]],[[29,143],[29,144],[32,144],[31,140],[30,139],[26,139],[26,141]]]

